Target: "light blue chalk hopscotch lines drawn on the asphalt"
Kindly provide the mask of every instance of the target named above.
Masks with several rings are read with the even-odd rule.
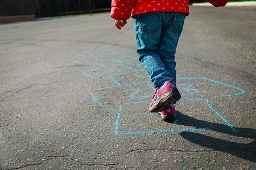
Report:
[[[106,49],[106,50],[107,50],[107,49]],[[115,56],[115,54],[121,54],[121,53],[115,52],[114,50],[109,50],[109,52],[114,52],[113,54],[110,53],[110,55],[112,55],[112,56]],[[83,54],[76,54],[76,55],[82,56],[82,57],[85,56],[85,55],[83,55]],[[134,76],[138,76],[138,77],[139,77],[139,76],[141,76],[141,77],[147,77],[147,76],[135,74],[135,73],[137,73],[137,72],[139,72],[139,71],[144,71],[144,69],[143,69],[143,70],[136,70],[136,69],[133,69],[133,68],[131,68],[131,67],[129,67],[129,66],[126,66],[127,64],[138,63],[139,61],[122,63],[122,61],[120,60],[120,58],[126,58],[126,57],[130,57],[130,58],[133,58],[133,59],[137,59],[137,58],[135,58],[135,57],[126,56],[126,54],[123,54],[123,56],[121,56],[121,57],[116,57],[116,58],[106,57],[106,56],[102,56],[102,55],[100,55],[100,54],[93,54],[93,55],[91,55],[91,56],[86,56],[86,58],[88,58],[88,57],[90,57],[90,58],[92,58],[92,59],[96,59],[97,61],[116,61],[116,62],[119,62],[119,64],[109,65],[109,66],[102,65],[102,64],[100,64],[100,63],[94,62],[96,65],[103,66],[103,67],[97,67],[97,68],[95,68],[94,70],[97,70],[97,69],[104,69],[104,68],[106,68],[106,67],[113,67],[113,66],[122,66],[122,67],[125,67],[125,68],[127,68],[127,69],[133,70],[133,71],[126,71],[126,72],[122,72],[122,73],[110,74],[110,75],[109,75],[110,79],[112,79],[112,80],[116,83],[116,85],[115,85],[115,86],[110,86],[110,87],[98,88],[98,90],[107,89],[107,88],[116,88],[116,87],[122,87],[122,86],[130,86],[130,85],[141,84],[141,83],[147,83],[150,87],[152,87],[152,89],[154,89],[154,87],[150,84],[150,81],[134,82],[134,83],[128,83],[128,84],[121,84],[121,83],[119,83],[116,79],[113,78],[114,75],[122,75],[122,74],[129,74],[129,73],[134,73],[133,75],[134,75]],[[93,57],[94,57],[94,58],[93,58]],[[106,59],[102,59],[102,58],[106,58]],[[72,62],[76,62],[76,61],[73,61],[73,60],[71,60],[71,61],[72,61]],[[77,62],[77,63],[80,63],[80,62]],[[139,65],[138,65],[138,66],[139,66]],[[113,69],[115,69],[115,68],[113,68]],[[88,69],[88,70],[93,70],[93,69]],[[109,71],[110,71],[110,69],[109,69]],[[113,70],[113,71],[121,71],[121,70]],[[94,78],[92,75],[86,74],[86,73],[84,73],[83,71],[81,71],[81,72],[82,72],[84,75],[89,76],[90,78],[96,79],[96,78]],[[180,79],[180,80],[183,80],[183,79],[204,79],[204,80],[209,80],[210,82],[213,82],[213,83],[222,84],[222,85],[224,85],[224,86],[231,87],[231,88],[234,88],[234,89],[236,89],[236,90],[238,90],[238,91],[241,91],[240,93],[237,93],[237,94],[219,95],[219,96],[212,96],[212,97],[226,97],[226,96],[236,96],[236,95],[245,94],[245,91],[243,91],[241,88],[237,88],[237,87],[231,86],[231,85],[229,85],[229,84],[221,83],[221,82],[218,82],[218,81],[216,81],[216,80],[208,79],[208,78],[205,78],[205,77],[177,78],[177,80],[179,80],[179,79]],[[186,87],[183,87],[183,88],[182,88],[183,90],[192,90],[192,91],[194,91],[194,92],[190,92],[190,93],[188,93],[188,94],[184,94],[183,96],[200,93],[199,90],[190,88],[190,87],[192,87],[192,84],[191,84],[191,83],[177,84],[177,86],[184,86],[184,85],[185,85]],[[152,95],[150,95],[150,96],[134,97],[134,95],[136,95],[136,94],[140,91],[139,88],[130,89],[130,90],[125,90],[125,91],[123,91],[123,92],[126,92],[126,91],[133,91],[133,90],[136,90],[136,91],[135,91],[133,94],[131,94],[131,96],[130,96],[130,97],[133,98],[133,99],[138,99],[138,98],[142,98],[142,97],[150,97],[150,96],[152,96]],[[96,101],[96,103],[97,103],[98,105],[101,105],[100,101],[98,101],[98,100],[96,99],[96,97],[92,94],[92,92],[89,91],[89,93],[92,95],[94,101]],[[218,113],[215,109],[212,108],[212,105],[209,104],[208,99],[181,99],[181,100],[205,100],[206,103],[207,103],[207,105],[208,105],[208,107],[209,107],[210,109],[212,109],[212,111],[213,111],[215,114],[217,114],[217,116],[220,117],[221,120],[225,122],[225,124],[227,124],[231,129],[235,130],[235,129],[233,128],[233,126],[232,126],[224,117],[221,116],[220,113]],[[128,103],[125,103],[125,104],[149,103],[149,102],[151,102],[151,101],[134,101],[134,102],[128,102]],[[120,119],[120,117],[121,117],[121,111],[122,111],[122,110],[121,110],[121,105],[122,105],[122,104],[119,105],[119,113],[118,113],[118,116],[117,116],[117,120],[115,121],[115,134],[116,134],[116,135],[123,135],[123,134],[142,134],[142,133],[157,133],[157,132],[167,132],[167,131],[185,131],[185,130],[207,130],[207,129],[210,129],[210,128],[199,128],[199,129],[188,128],[188,129],[168,129],[168,130],[135,131],[135,132],[133,132],[133,131],[128,131],[128,132],[126,132],[126,133],[118,133],[118,123],[119,123],[119,119]],[[148,115],[146,115],[145,117],[153,116],[153,115],[155,115],[155,114],[156,114],[156,113],[148,114]],[[175,121],[175,124],[176,124],[176,121]],[[177,125],[177,124],[176,124],[176,125]]]

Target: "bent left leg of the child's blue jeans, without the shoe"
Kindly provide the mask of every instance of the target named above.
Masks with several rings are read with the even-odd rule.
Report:
[[[139,61],[147,70],[154,87],[160,86],[171,79],[158,53],[162,15],[159,12],[135,15],[134,25]]]

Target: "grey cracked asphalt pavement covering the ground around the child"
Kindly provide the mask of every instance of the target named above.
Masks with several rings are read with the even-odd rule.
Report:
[[[0,24],[0,169],[256,169],[256,7],[190,11],[171,123],[148,112],[133,19]]]

